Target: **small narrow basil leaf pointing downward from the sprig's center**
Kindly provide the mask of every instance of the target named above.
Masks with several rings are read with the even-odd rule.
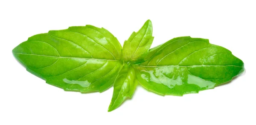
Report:
[[[126,97],[131,98],[136,86],[137,81],[135,79],[134,68],[125,64],[115,80],[113,97],[108,111],[113,111],[119,107]]]

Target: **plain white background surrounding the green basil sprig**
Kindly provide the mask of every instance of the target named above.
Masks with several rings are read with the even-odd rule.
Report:
[[[253,0],[1,0],[0,125],[256,125],[256,3]],[[138,86],[108,112],[103,93],[64,92],[30,74],[12,56],[28,37],[69,26],[108,29],[119,42],[151,19],[152,47],[178,36],[209,39],[244,61],[246,72],[215,89],[183,97]]]

